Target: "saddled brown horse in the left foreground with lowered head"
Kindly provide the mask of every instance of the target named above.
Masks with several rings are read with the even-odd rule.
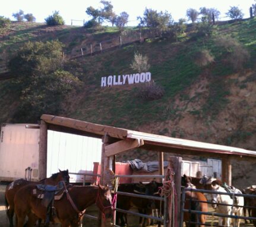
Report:
[[[32,227],[36,219],[46,219],[46,207],[41,199],[33,195],[36,184],[20,188],[15,195],[16,227],[23,227],[25,217],[29,217],[27,227]],[[108,187],[71,186],[66,188],[60,200],[54,200],[54,215],[51,221],[61,223],[61,227],[77,227],[85,209],[96,203],[105,217],[112,215],[112,196]]]

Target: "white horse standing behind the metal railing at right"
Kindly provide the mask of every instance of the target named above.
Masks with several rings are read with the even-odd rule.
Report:
[[[227,192],[223,187],[220,187],[219,185],[212,186],[212,189],[217,193]],[[234,193],[242,194],[241,191],[236,188],[234,189]],[[230,195],[212,194],[212,202],[214,202],[214,204],[212,204],[212,207],[216,209],[216,212],[219,214],[242,216],[243,206],[244,206],[244,197],[243,196],[234,196],[233,198],[231,197]],[[227,205],[219,205],[218,203],[227,204]],[[242,207],[235,207],[233,205],[239,205]],[[229,227],[231,223],[231,218],[219,217],[219,225],[223,225],[223,220],[225,221],[225,226]],[[234,219],[233,226],[239,227],[239,225],[240,225],[240,219]]]

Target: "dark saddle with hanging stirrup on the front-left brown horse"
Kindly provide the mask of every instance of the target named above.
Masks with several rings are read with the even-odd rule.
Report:
[[[54,200],[60,200],[65,193],[64,182],[60,181],[58,185],[37,185],[36,189],[33,189],[33,195],[37,198],[41,198],[41,204],[46,207],[46,221],[48,224],[51,217],[56,216],[55,209],[53,207]]]

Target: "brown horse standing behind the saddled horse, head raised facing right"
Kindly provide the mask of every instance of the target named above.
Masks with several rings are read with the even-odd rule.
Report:
[[[64,181],[66,183],[70,182],[70,176],[68,175],[68,170],[60,171],[58,173],[52,174],[50,178],[43,179],[38,182],[27,181],[24,179],[18,179],[12,181],[5,189],[5,207],[6,207],[6,215],[9,219],[10,227],[13,227],[13,215],[14,215],[14,197],[17,191],[29,185],[29,183],[44,183],[45,185],[57,185],[59,181]]]

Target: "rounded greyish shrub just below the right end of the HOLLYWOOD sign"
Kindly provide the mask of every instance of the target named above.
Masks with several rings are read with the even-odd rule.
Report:
[[[157,85],[154,81],[143,83],[137,96],[144,101],[159,100],[164,95],[164,89],[162,86]]]

